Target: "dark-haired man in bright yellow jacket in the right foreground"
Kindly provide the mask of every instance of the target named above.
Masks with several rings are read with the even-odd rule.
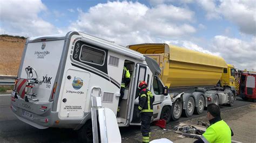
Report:
[[[210,126],[200,139],[194,142],[231,142],[233,131],[220,117],[220,108],[212,103],[207,106],[207,119]]]

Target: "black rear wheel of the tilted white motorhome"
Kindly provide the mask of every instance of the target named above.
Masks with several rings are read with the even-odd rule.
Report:
[[[86,121],[84,126],[79,130],[79,136],[82,142],[93,142],[92,134],[92,122],[91,120]]]

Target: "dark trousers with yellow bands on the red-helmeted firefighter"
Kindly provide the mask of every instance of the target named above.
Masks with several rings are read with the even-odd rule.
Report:
[[[150,121],[151,116],[146,115],[145,113],[141,113],[142,125],[140,126],[140,131],[142,132],[142,141],[149,142],[151,129],[150,129]]]

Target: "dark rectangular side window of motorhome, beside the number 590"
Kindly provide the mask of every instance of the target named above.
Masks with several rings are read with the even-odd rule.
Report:
[[[92,62],[99,65],[103,65],[105,58],[105,52],[96,48],[92,48],[86,45],[82,46],[82,53],[80,60],[86,62]]]

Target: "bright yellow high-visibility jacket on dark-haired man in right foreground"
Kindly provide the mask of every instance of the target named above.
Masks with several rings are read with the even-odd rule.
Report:
[[[211,126],[207,128],[201,140],[204,142],[231,142],[231,128],[220,117],[210,120]]]

